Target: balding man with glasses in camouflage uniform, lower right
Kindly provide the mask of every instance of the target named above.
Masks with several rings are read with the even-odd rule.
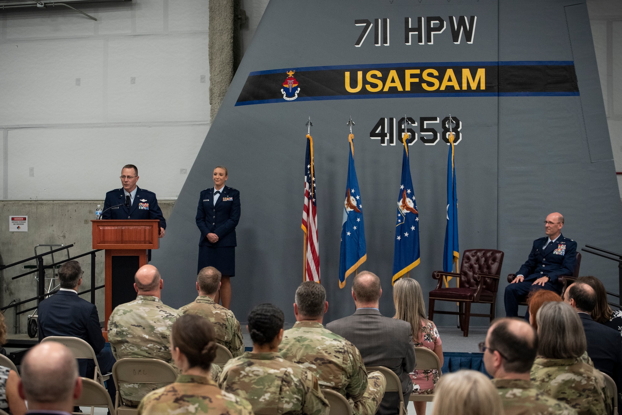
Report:
[[[493,376],[505,415],[576,415],[577,411],[546,396],[531,382],[529,371],[537,350],[536,331],[519,319],[494,321],[486,341],[480,343],[486,372]]]

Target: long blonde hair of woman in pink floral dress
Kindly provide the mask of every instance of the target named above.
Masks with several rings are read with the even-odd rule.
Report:
[[[421,286],[413,278],[400,278],[393,286],[394,319],[411,324],[412,340],[419,343],[421,326],[428,322],[425,313],[424,294]]]

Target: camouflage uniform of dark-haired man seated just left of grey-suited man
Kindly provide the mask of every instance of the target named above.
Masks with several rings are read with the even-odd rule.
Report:
[[[313,321],[299,321],[283,334],[281,356],[311,370],[322,388],[348,399],[354,415],[374,415],[386,389],[380,372],[366,373],[355,345]]]

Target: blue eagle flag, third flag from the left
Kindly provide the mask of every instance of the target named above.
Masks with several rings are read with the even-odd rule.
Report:
[[[417,267],[421,260],[419,255],[419,212],[417,212],[417,201],[415,201],[414,188],[412,187],[411,164],[406,147],[408,139],[405,137],[403,141],[405,144],[404,155],[402,156],[402,178],[397,194],[397,224],[395,227],[391,283],[395,283],[398,278]]]

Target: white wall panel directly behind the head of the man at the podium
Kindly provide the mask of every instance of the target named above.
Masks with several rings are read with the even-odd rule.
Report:
[[[141,188],[175,198],[187,176],[181,169],[190,170],[207,130],[207,125],[10,130],[8,196],[103,199],[106,191],[121,187],[121,167],[131,163],[139,168]]]

